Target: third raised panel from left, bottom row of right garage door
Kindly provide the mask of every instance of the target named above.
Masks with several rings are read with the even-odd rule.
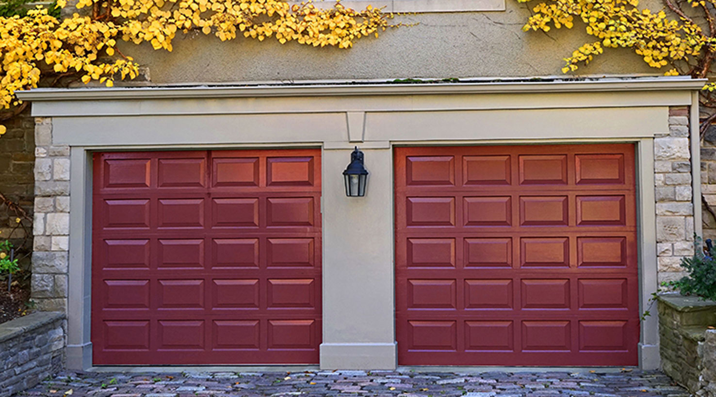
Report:
[[[569,321],[522,321],[523,351],[569,351]]]

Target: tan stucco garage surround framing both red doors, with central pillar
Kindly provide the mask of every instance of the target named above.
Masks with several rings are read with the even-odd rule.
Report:
[[[700,217],[695,216],[700,214],[700,200],[694,199],[700,194],[691,184],[700,180],[699,167],[693,166],[698,164],[694,151],[699,147],[694,138],[698,136],[694,133],[694,92],[702,84],[688,79],[632,79],[19,93],[22,99],[33,101],[33,114],[40,118],[38,134],[44,140],[40,139],[42,144],[38,145],[48,152],[69,148],[69,156],[55,159],[61,164],[69,159],[70,163],[67,227],[55,224],[56,219],[62,223],[65,218],[56,215],[60,211],[55,208],[43,215],[42,227],[36,226],[35,231],[51,241],[65,236],[69,241],[69,247],[48,248],[54,253],[54,262],[48,260],[43,265],[69,285],[67,296],[52,296],[46,301],[68,313],[67,365],[92,366],[89,241],[93,151],[320,147],[324,241],[321,368],[395,368],[393,147],[634,143],[643,311],[657,289],[659,205],[655,185],[665,178],[659,174],[669,174],[663,169],[655,171],[655,157],[661,161],[661,154],[654,150],[664,143],[659,139],[674,138],[669,135],[674,134],[674,126],[684,126],[683,119],[675,120],[673,114],[669,118],[669,109],[691,109],[687,141],[682,141],[684,136],[676,137],[679,144],[687,144],[687,152],[673,160],[690,164],[682,172],[688,177],[678,179],[684,182],[679,185],[680,191],[692,189],[692,194],[690,200],[674,202],[685,203],[692,211],[677,214],[684,233],[700,233]],[[364,198],[344,194],[341,171],[354,145],[364,151],[371,173]],[[64,203],[67,194],[63,181],[49,176],[39,180],[38,186],[47,188],[45,196]],[[683,241],[689,241],[687,234],[669,243],[673,246]],[[38,252],[38,258],[49,258],[44,251]],[[64,268],[63,255],[67,257]],[[659,366],[657,321],[653,317],[642,323],[639,363],[642,368]]]

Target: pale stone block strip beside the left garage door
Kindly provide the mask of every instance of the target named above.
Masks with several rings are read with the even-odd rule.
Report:
[[[67,309],[69,146],[52,145],[52,119],[35,120],[32,299],[40,310]]]

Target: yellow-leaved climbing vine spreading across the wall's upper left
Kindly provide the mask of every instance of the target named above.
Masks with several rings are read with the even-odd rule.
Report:
[[[57,6],[66,7],[67,0]],[[382,9],[355,11],[339,2],[319,8],[284,0],[78,0],[74,7],[82,15],[62,20],[44,8],[0,16],[0,109],[18,107],[15,92],[41,81],[97,80],[111,87],[117,79],[134,79],[139,64],[117,49],[117,41],[172,51],[176,34],[200,31],[221,41],[243,36],[349,49],[357,39],[397,26]],[[0,125],[0,135],[5,131]]]

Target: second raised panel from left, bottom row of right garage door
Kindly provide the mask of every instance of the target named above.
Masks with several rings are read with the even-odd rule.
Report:
[[[512,321],[465,321],[465,350],[513,351]]]

